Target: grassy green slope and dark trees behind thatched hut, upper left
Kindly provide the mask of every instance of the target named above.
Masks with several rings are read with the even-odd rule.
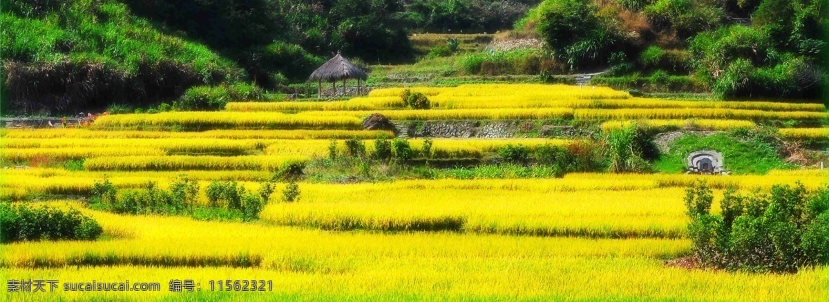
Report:
[[[535,0],[0,0],[0,110],[176,100],[197,85],[301,81],[332,53],[414,57],[410,32],[511,27]]]

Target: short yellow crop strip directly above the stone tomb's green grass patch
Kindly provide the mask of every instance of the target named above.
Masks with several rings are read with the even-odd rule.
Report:
[[[750,120],[739,119],[640,119],[640,120],[608,120],[602,123],[602,130],[620,129],[630,124],[639,124],[655,129],[710,129],[730,130],[739,128],[753,128],[757,124]]]

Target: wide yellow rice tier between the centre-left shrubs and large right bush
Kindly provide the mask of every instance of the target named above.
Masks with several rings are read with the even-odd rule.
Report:
[[[516,192],[488,189],[332,190],[305,186],[300,202],[274,202],[260,219],[324,230],[468,231],[502,235],[685,235],[684,189]]]

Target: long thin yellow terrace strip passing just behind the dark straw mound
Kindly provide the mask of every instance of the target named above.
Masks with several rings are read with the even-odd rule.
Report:
[[[119,114],[102,117],[98,128],[152,126],[190,128],[246,127],[263,129],[344,128],[360,129],[361,118],[380,113],[392,120],[431,119],[825,119],[827,113],[812,111],[763,111],[729,109],[458,109],[303,111],[298,114],[263,112],[176,112]],[[107,118],[107,119],[104,119]]]

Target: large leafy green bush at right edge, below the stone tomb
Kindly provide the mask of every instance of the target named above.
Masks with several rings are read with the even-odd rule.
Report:
[[[775,185],[771,194],[725,191],[711,214],[713,192],[700,181],[686,190],[688,236],[697,261],[726,270],[797,272],[829,263],[829,187],[809,192]]]

